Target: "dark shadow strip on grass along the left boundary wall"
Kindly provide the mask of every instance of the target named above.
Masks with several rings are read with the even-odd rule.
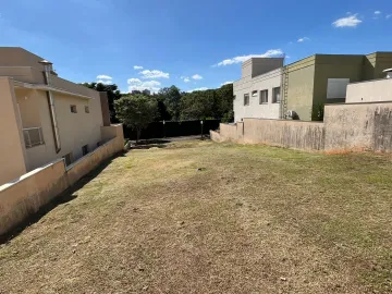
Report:
[[[83,188],[86,184],[88,184],[93,179],[98,176],[113,160],[113,158],[122,156],[122,152],[111,157],[105,161],[102,161],[95,170],[90,171],[86,175],[84,175],[81,180],[78,180],[73,186],[69,187],[60,195],[54,197],[51,201],[44,205],[37,212],[30,212],[32,215],[27,217],[25,220],[20,222],[13,229],[11,229],[8,233],[0,235],[0,245],[10,242],[12,238],[19,236],[26,228],[32,224],[38,222],[42,217],[49,213],[51,210],[57,208],[60,205],[70,203],[77,197],[77,191]]]

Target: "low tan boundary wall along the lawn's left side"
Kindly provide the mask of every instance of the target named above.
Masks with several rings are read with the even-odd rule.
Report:
[[[111,127],[122,134],[122,125]],[[0,235],[37,212],[105,159],[121,151],[124,147],[121,134],[66,168],[63,159],[58,159],[0,186]]]

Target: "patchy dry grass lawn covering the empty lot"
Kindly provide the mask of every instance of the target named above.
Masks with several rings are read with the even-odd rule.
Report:
[[[128,151],[0,247],[1,293],[391,293],[392,158]]]

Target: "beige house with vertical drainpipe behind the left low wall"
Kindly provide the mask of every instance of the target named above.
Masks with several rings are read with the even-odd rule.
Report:
[[[60,78],[52,64],[23,48],[0,48],[0,185],[102,143],[108,97]]]

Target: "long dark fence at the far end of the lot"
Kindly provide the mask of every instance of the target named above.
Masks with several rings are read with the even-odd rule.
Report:
[[[209,134],[209,131],[219,128],[220,120],[203,121],[203,134]],[[152,122],[146,128],[142,130],[140,139],[181,137],[201,134],[200,121],[182,122]],[[125,138],[136,139],[136,131],[124,126]]]

